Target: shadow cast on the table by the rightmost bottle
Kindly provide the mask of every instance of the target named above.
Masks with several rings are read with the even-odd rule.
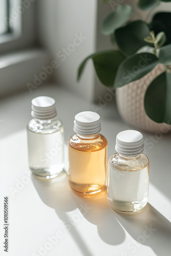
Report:
[[[158,256],[170,256],[171,223],[151,204],[147,203],[144,209],[135,214],[113,211],[113,216],[138,243],[151,247]],[[129,243],[127,248],[135,252],[140,246],[138,243]]]

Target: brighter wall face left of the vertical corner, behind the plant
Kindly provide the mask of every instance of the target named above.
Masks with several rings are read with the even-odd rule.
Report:
[[[95,75],[92,64],[89,63],[79,83],[76,82],[76,76],[82,59],[95,52],[97,0],[38,0],[37,8],[39,41],[50,51],[52,59],[59,63],[54,72],[55,81],[92,100]],[[67,51],[68,56],[61,55],[62,49],[71,47],[72,50],[75,34],[80,33],[86,39],[73,52]]]

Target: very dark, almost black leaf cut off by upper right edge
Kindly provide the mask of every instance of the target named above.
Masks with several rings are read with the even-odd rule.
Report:
[[[149,24],[149,29],[155,32],[157,35],[159,32],[163,31],[166,36],[166,41],[164,45],[171,44],[171,12],[158,12],[154,15],[151,24]]]

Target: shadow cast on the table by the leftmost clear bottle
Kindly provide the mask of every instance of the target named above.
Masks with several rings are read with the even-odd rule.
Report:
[[[69,219],[67,212],[77,208],[73,200],[73,191],[68,184],[68,175],[66,172],[63,172],[54,179],[41,178],[33,174],[31,178],[42,202],[54,208],[59,219],[63,223],[66,223]],[[77,242],[77,246],[82,251],[82,255],[93,256],[75,227],[72,226],[72,228],[68,230]]]

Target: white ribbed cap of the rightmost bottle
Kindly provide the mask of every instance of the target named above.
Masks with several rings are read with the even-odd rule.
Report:
[[[126,130],[116,136],[115,150],[123,156],[137,156],[144,150],[143,135],[134,130]]]

